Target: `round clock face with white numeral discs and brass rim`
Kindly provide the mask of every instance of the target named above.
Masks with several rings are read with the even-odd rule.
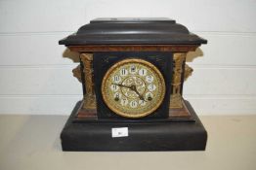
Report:
[[[103,79],[107,107],[126,118],[142,118],[155,111],[165,95],[160,71],[143,59],[124,59],[110,67]]]

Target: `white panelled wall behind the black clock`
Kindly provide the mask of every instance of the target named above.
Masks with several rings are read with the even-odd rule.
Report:
[[[95,17],[186,25],[208,40],[184,86],[197,114],[256,114],[255,0],[0,0],[0,114],[70,114],[82,89],[58,41]]]

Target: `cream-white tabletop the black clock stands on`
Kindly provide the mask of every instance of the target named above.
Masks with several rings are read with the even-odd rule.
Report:
[[[205,152],[62,152],[64,116],[0,116],[0,169],[255,170],[256,116],[200,117]]]

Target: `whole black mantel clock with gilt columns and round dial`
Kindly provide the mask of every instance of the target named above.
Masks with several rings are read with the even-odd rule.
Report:
[[[97,18],[59,42],[79,52],[83,100],[67,120],[64,151],[204,150],[207,133],[183,99],[186,54],[207,41],[175,20]]]

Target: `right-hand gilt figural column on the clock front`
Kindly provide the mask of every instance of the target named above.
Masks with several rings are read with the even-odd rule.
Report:
[[[172,77],[172,94],[170,99],[169,108],[183,108],[183,99],[181,94],[182,76],[183,76],[183,63],[186,59],[186,53],[174,53],[173,61],[173,77]]]

